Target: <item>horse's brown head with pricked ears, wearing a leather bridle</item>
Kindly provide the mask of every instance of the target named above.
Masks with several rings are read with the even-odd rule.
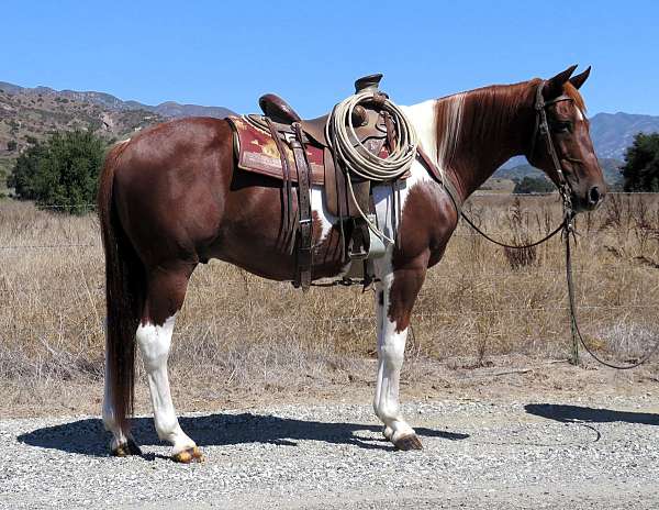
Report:
[[[590,67],[572,76],[576,68],[571,66],[538,84],[534,96],[535,132],[526,154],[532,165],[541,168],[559,188],[566,188],[574,211],[592,211],[602,202],[606,182],[578,90],[588,79]]]

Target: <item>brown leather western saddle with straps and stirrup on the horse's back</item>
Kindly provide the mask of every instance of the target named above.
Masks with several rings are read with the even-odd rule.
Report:
[[[380,108],[382,98],[387,98],[378,90],[381,78],[382,75],[377,74],[355,81],[356,92],[373,91],[373,101],[367,103],[366,108],[359,104],[354,109],[350,122],[357,140],[351,138],[351,143],[354,145],[360,143],[371,154],[387,157],[395,143],[396,133],[390,115]],[[360,211],[369,211],[369,220],[376,222],[371,181],[346,171],[335,157],[332,145],[327,141],[326,129],[332,113],[317,119],[303,120],[287,101],[273,93],[263,96],[258,103],[264,112],[263,115],[249,114],[237,119],[230,118],[230,121],[234,124],[236,133],[237,122],[246,121],[252,129],[257,127],[267,132],[276,144],[280,158],[277,166],[280,167],[280,171],[277,170],[275,174],[268,171],[267,175],[280,178],[282,181],[284,233],[290,234],[292,243],[289,246],[295,251],[293,285],[302,289],[308,289],[311,285],[313,223],[310,191],[312,182],[319,180],[324,184],[327,212],[339,219],[344,262],[362,262],[362,282],[365,286],[369,285],[372,281],[370,259],[384,253],[382,241],[370,232],[367,221],[360,213]],[[239,145],[239,162],[243,160],[243,151],[247,148]],[[309,162],[311,151],[322,153],[323,166],[323,176],[320,179],[314,169],[313,181]],[[241,167],[258,171],[254,168]],[[348,189],[351,192],[348,192]],[[293,203],[294,195],[297,195],[297,203]],[[353,266],[357,265],[353,264]]]

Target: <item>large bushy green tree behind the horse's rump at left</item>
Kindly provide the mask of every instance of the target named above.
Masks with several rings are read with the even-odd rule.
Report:
[[[8,185],[20,199],[83,213],[93,203],[105,143],[88,131],[55,133],[19,156]]]

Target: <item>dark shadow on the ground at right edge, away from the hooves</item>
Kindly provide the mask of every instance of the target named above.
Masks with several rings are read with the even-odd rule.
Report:
[[[527,403],[524,406],[527,413],[547,418],[563,423],[638,423],[644,425],[659,425],[659,414],[650,412],[614,411],[611,409],[584,408],[581,406],[566,406],[551,403]]]

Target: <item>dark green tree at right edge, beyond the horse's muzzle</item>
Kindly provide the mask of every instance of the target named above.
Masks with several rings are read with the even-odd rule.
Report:
[[[659,191],[659,133],[638,133],[621,171],[625,191]]]

